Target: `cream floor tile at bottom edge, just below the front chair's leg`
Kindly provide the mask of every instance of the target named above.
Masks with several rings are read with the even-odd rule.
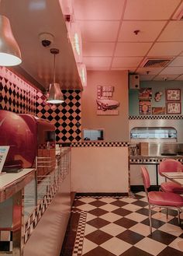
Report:
[[[167,245],[161,244],[160,242],[145,237],[143,238],[143,240],[140,240],[138,243],[136,243],[136,247],[143,251],[147,251],[147,253],[153,254],[155,256],[163,251],[164,248],[167,247]]]

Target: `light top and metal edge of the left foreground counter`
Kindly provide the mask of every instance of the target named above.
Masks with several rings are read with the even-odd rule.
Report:
[[[24,169],[19,174],[2,174],[1,179],[5,180],[0,184],[0,202],[5,201],[10,198],[16,192],[20,191],[22,188],[32,181],[35,177],[36,169]],[[11,177],[11,179],[9,179]]]

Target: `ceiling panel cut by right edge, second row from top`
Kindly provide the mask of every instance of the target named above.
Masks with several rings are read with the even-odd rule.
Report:
[[[170,21],[158,41],[183,41],[183,21]]]

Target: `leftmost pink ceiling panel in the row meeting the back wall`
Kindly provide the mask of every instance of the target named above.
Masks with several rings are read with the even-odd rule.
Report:
[[[83,57],[83,61],[87,69],[91,68],[107,68],[109,69],[112,58],[110,57]]]

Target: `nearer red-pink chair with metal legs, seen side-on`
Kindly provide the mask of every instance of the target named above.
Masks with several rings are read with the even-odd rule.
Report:
[[[150,234],[152,233],[152,209],[154,207],[161,207],[165,209],[177,209],[178,210],[178,223],[180,225],[180,212],[183,206],[183,197],[178,194],[163,192],[163,191],[150,191],[150,176],[146,167],[141,167],[141,174],[143,177],[143,185],[147,195],[147,202],[149,203],[149,219],[150,219]]]

